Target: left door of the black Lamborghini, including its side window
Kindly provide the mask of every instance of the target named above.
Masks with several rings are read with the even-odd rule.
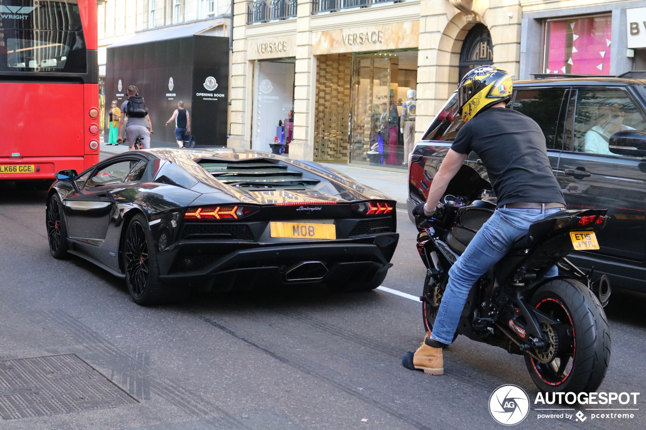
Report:
[[[76,181],[78,192],[63,200],[70,238],[100,246],[105,240],[114,198],[110,190],[122,187],[130,170],[140,163],[137,158],[118,159],[98,165],[83,180]]]

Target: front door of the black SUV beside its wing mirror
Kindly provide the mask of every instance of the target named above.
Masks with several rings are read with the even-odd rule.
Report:
[[[646,131],[644,112],[638,106],[627,88],[573,88],[557,179],[568,209],[608,209],[610,220],[598,233],[598,252],[643,261],[646,174],[640,170],[642,158],[618,154],[620,148],[608,143],[618,130]]]

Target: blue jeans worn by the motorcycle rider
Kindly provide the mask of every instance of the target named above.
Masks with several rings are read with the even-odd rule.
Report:
[[[448,285],[433,323],[433,339],[453,343],[453,334],[474,283],[507,254],[514,239],[527,232],[531,223],[559,210],[561,209],[545,209],[545,212],[541,209],[495,210],[448,271]],[[545,274],[545,278],[557,275],[558,269],[554,266]]]

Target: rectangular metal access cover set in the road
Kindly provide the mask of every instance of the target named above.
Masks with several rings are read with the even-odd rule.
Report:
[[[75,354],[0,362],[5,420],[138,404]]]

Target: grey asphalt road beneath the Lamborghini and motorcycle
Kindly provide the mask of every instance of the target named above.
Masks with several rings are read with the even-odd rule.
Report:
[[[5,360],[76,354],[136,402],[4,420],[3,429],[480,430],[503,427],[488,412],[499,385],[537,393],[520,356],[463,336],[444,353],[444,376],[401,367],[422,339],[421,305],[386,291],[259,288],[140,307],[101,269],[50,256],[45,197],[0,183],[0,371]],[[398,215],[401,241],[384,286],[415,296],[424,269],[415,229]],[[638,404],[644,309],[638,294],[611,298],[612,358],[599,389],[641,393]],[[0,378],[0,409],[10,393]],[[643,406],[632,420],[585,424],[538,420],[534,409],[517,428],[646,427]]]

